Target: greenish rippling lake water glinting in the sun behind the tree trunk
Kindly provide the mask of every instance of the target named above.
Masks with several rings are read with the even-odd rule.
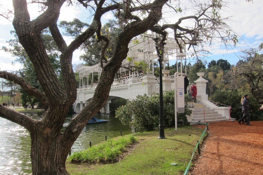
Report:
[[[26,115],[33,119],[41,119],[42,117],[42,114],[39,113],[27,113]],[[68,115],[64,127],[69,124],[70,119],[75,115]],[[120,136],[121,130],[122,135],[133,133],[131,127],[123,125],[118,118],[115,118],[114,114],[98,113],[94,117],[109,121],[107,123],[86,125],[72,146],[72,153],[89,148],[90,141],[92,146],[104,141],[105,135],[110,139]],[[0,174],[26,175],[32,173],[31,139],[28,130],[2,117],[0,117],[0,123]]]

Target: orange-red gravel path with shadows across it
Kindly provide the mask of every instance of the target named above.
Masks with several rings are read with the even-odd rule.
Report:
[[[210,123],[201,156],[189,174],[262,175],[263,121],[250,124],[252,126],[240,125],[237,121]]]

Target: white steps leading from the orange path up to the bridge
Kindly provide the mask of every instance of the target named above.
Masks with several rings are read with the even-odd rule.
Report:
[[[222,114],[214,111],[214,109],[210,109],[210,107],[206,107],[206,105],[203,105],[200,101],[195,103],[195,107],[192,108],[191,116],[188,116],[188,122],[190,125],[195,123],[211,123],[221,121],[229,121],[229,117],[222,116]],[[230,121],[236,121],[236,119],[230,118]]]

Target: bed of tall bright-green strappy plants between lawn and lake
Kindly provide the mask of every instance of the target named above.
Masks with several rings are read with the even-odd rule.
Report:
[[[125,151],[125,147],[138,141],[133,135],[121,137],[118,140],[109,139],[106,142],[92,146],[87,150],[74,152],[68,157],[68,160],[73,162],[113,162],[115,158]]]

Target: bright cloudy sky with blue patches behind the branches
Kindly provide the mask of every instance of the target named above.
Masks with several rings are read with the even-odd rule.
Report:
[[[203,1],[203,0],[200,0]],[[219,44],[214,44],[211,47],[211,54],[205,58],[207,62],[212,60],[224,59],[227,60],[231,65],[236,64],[239,61],[239,56],[241,55],[241,49],[247,48],[258,48],[261,42],[263,42],[263,1],[262,0],[253,0],[253,2],[246,2],[246,0],[235,0],[236,4],[231,4],[231,9],[227,9],[226,12],[221,14],[222,17],[230,17],[231,21],[227,23],[237,35],[240,37],[239,43],[235,47],[229,47],[227,50]],[[12,1],[10,0],[0,0],[0,7],[5,7],[8,9],[13,8]],[[0,8],[1,10],[1,8]],[[35,5],[29,5],[28,10],[31,16],[31,19],[36,18],[39,15],[39,12]],[[169,18],[169,13],[164,12],[163,15],[167,16],[168,20],[174,18],[173,15]],[[82,21],[89,22],[87,20],[87,16],[89,13],[87,10],[83,10],[81,8],[73,8],[72,6],[66,7],[65,5],[62,7],[60,12],[59,21],[66,20],[72,21],[74,18],[79,18]],[[104,20],[112,19],[113,15],[108,13],[104,15]],[[10,30],[14,30],[12,22],[0,16],[0,48],[2,46],[8,47],[8,43],[6,41],[13,39],[13,35],[10,34]],[[64,37],[67,44],[69,44],[72,39]],[[82,61],[79,60],[81,52],[79,50],[75,51],[73,54],[72,63],[78,64]],[[18,70],[22,67],[21,64],[15,63],[12,65],[12,61],[14,62],[15,58],[11,56],[11,54],[0,50],[0,70],[13,71]],[[194,64],[194,60],[192,58],[187,58],[187,62],[190,62],[192,65]],[[170,57],[170,65],[175,64],[175,58]]]

